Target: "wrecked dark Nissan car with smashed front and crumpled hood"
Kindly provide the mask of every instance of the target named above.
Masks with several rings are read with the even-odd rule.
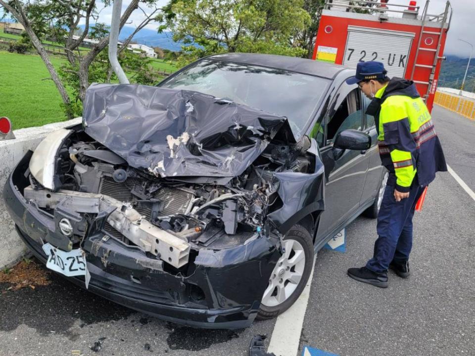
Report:
[[[314,252],[377,213],[385,174],[351,75],[234,53],[158,87],[92,85],[83,123],[27,153],[3,198],[74,283],[177,323],[249,326],[288,309]]]

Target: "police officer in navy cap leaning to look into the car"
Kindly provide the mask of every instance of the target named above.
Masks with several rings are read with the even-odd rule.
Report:
[[[389,80],[380,62],[359,62],[358,84],[370,99],[367,114],[375,117],[381,163],[389,171],[378,213],[374,256],[365,267],[349,268],[360,282],[386,288],[387,268],[409,276],[414,208],[437,171],[447,171],[444,154],[430,114],[412,81]]]

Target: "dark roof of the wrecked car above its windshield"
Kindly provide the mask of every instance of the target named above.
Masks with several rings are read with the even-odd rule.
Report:
[[[276,54],[234,52],[215,54],[206,58],[284,69],[289,72],[310,74],[327,79],[334,79],[342,71],[349,71],[347,67],[339,64]]]

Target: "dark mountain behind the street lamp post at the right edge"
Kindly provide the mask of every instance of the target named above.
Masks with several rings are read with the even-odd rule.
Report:
[[[439,75],[439,87],[460,89],[467,69],[468,58],[460,58],[448,55],[447,60],[442,61]],[[465,90],[475,90],[475,58],[470,61],[467,79],[465,81]]]

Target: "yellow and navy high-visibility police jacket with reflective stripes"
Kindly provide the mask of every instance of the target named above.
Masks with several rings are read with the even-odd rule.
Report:
[[[416,174],[425,186],[436,172],[447,171],[430,114],[412,81],[391,79],[375,94],[367,114],[375,117],[381,164],[396,190],[408,192]]]

